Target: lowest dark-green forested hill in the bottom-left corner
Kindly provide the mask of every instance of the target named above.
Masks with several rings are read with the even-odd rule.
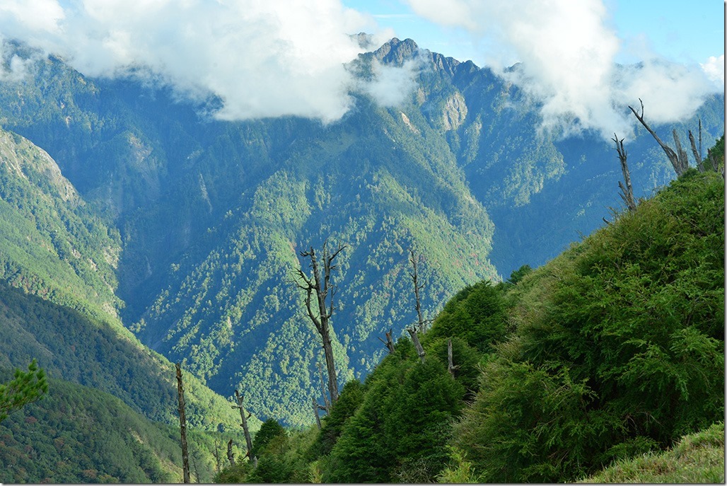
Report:
[[[150,422],[96,389],[57,379],[49,385],[44,399],[0,423],[1,482],[182,481],[179,426]],[[209,482],[217,469],[214,447],[225,457],[228,437],[216,436],[193,432],[188,439],[198,482]]]

